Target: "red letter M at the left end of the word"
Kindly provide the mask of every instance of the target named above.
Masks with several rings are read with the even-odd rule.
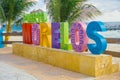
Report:
[[[23,42],[32,44],[32,24],[24,23],[22,25]]]

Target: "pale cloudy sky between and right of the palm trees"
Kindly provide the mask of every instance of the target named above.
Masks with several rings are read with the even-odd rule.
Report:
[[[92,20],[120,22],[120,0],[88,0],[86,3],[94,5],[102,12],[102,15]],[[36,10],[39,8],[46,11],[44,0],[38,0],[37,5],[32,9]]]

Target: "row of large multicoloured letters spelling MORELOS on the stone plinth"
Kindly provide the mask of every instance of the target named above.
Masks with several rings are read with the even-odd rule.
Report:
[[[89,23],[87,30],[86,24],[83,22],[73,23],[70,30],[68,22],[24,23],[22,27],[23,42],[27,44],[77,52],[89,49],[92,54],[102,54],[107,47],[105,38],[97,33],[98,31],[106,31],[106,27],[102,22]],[[87,36],[93,39],[96,44],[88,44]]]

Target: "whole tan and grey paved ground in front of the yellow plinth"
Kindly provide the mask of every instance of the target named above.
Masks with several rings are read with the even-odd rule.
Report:
[[[120,72],[98,78],[64,70],[0,49],[0,80],[120,80]]]

